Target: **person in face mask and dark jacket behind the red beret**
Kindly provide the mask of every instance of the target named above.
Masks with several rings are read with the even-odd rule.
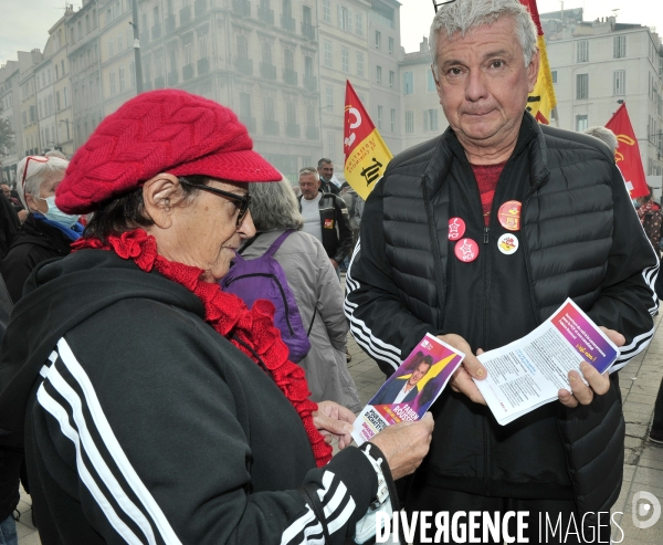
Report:
[[[0,264],[14,304],[32,270],[42,261],[67,255],[71,243],[83,232],[77,214],[64,213],[55,206],[55,188],[67,166],[60,157],[28,156],[19,163],[17,191],[30,213]]]

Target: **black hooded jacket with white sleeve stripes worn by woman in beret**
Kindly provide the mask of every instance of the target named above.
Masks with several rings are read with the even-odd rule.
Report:
[[[290,401],[202,316],[188,290],[107,251],[30,276],[2,344],[0,449],[24,440],[43,545],[354,534],[377,492],[367,458],[316,469]]]

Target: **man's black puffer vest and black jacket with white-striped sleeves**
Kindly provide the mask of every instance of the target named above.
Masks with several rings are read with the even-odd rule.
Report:
[[[594,142],[539,127],[525,114],[487,228],[453,130],[392,159],[366,203],[346,301],[355,338],[387,375],[427,332],[455,333],[473,350],[488,350],[529,333],[567,296],[625,336],[617,369],[646,346],[657,261],[614,161]],[[497,249],[507,232],[497,210],[507,200],[523,203],[520,248],[512,255]],[[459,261],[448,240],[453,217],[478,243],[471,263]],[[624,423],[617,376],[588,408],[548,403],[505,427],[451,389],[433,416],[431,451],[419,470],[429,484],[575,497],[580,512],[606,511],[619,494]]]

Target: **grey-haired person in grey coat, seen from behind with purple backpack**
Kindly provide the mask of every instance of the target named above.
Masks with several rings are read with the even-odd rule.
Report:
[[[304,218],[287,180],[251,184],[251,216],[257,234],[240,253],[246,260],[263,255],[281,234],[294,230],[274,259],[283,268],[302,321],[311,331],[311,350],[299,366],[306,371],[311,399],[329,399],[357,412],[357,387],[346,363],[348,325],[343,290],[322,242],[301,231]]]

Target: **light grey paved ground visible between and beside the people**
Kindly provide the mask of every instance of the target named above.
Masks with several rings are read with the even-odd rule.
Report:
[[[660,316],[656,317],[656,335],[646,352],[632,360],[620,373],[624,417],[627,420],[627,441],[624,461],[624,481],[621,495],[613,507],[613,520],[622,528],[622,533],[613,525],[614,543],[624,545],[659,544],[663,545],[663,515],[649,528],[638,528],[633,521],[633,496],[638,492],[653,494],[659,504],[663,504],[663,446],[648,441],[654,400],[663,377],[663,327],[659,328]],[[364,403],[372,397],[383,376],[377,364],[369,358],[355,340],[349,337],[348,348],[352,360],[348,365]],[[641,502],[642,503],[642,502]],[[19,545],[40,545],[39,534],[32,525],[30,496],[22,495],[19,504],[21,518],[18,523]],[[652,513],[641,510],[640,520],[649,518]],[[661,513],[661,507],[659,507]]]

